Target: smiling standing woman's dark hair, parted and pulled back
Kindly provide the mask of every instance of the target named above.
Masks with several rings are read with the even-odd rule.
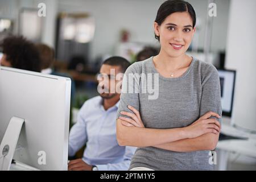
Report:
[[[196,13],[191,4],[183,0],[168,0],[164,2],[158,9],[155,22],[160,26],[163,21],[172,13],[176,12],[188,12],[193,20],[193,28],[196,25]],[[159,41],[160,37],[155,35],[155,38]]]

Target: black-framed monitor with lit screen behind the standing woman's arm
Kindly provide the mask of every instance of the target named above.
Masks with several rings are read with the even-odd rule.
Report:
[[[236,71],[218,69],[221,85],[222,115],[231,117],[234,100],[234,87],[236,82]]]

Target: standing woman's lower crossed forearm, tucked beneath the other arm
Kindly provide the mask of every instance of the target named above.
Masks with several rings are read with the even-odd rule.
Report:
[[[181,139],[175,142],[155,145],[153,147],[176,152],[192,152],[199,150],[214,150],[218,142],[218,135],[204,134],[197,138]]]

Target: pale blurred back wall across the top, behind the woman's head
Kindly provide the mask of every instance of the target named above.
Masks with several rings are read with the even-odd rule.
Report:
[[[38,8],[38,3],[47,5],[42,41],[54,46],[57,12],[90,13],[96,19],[96,32],[92,41],[90,57],[114,53],[119,40],[119,31],[127,28],[131,42],[158,45],[154,39],[153,22],[164,0],[1,0],[0,17],[14,20],[18,32],[18,11],[22,7]],[[199,48],[204,46],[204,27],[208,14],[208,1],[188,0],[195,8],[200,31]],[[226,28],[230,0],[216,0],[217,17],[213,20],[212,51],[225,50]]]

